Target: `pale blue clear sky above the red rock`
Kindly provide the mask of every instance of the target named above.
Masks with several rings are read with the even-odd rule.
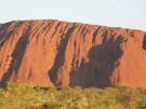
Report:
[[[0,0],[0,22],[61,19],[146,30],[146,0]]]

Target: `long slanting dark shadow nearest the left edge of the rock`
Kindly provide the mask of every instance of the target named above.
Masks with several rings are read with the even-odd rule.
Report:
[[[1,81],[0,81],[0,86],[3,86],[5,82],[8,82],[11,79],[12,73],[14,72],[15,76],[17,76],[18,69],[21,67],[26,46],[28,43],[28,37],[30,33],[30,27],[25,31],[25,33],[19,38],[17,41],[15,49],[12,53],[12,60],[10,63],[10,67],[8,70],[3,73]],[[15,77],[16,78],[16,77]]]

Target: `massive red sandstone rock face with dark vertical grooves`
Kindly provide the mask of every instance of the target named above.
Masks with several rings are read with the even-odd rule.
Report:
[[[146,32],[58,21],[0,26],[0,80],[146,87]]]

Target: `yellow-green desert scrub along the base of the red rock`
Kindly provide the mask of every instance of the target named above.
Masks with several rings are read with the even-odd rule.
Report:
[[[40,87],[9,82],[1,109],[146,109],[146,90],[130,87]]]

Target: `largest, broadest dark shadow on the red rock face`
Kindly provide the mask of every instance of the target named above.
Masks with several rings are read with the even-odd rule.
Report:
[[[82,58],[80,67],[70,72],[69,85],[82,87],[112,86],[110,76],[115,68],[119,66],[118,60],[123,54],[120,44],[124,41],[122,36],[118,38],[103,36],[102,44],[95,45],[89,51],[89,60],[85,62]]]

